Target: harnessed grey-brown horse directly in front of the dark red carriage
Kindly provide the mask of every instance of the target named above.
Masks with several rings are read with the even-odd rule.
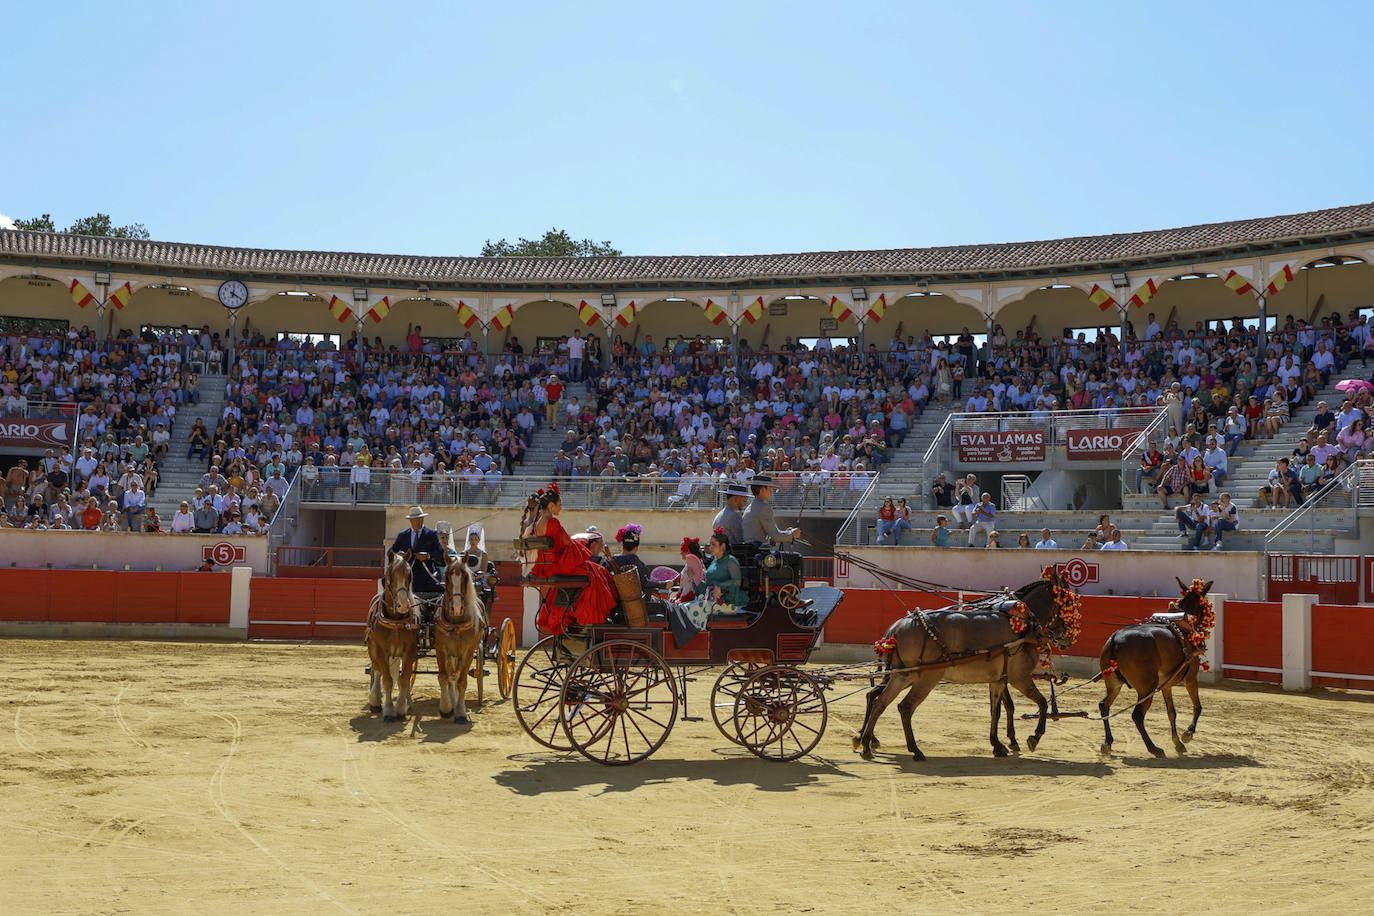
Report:
[[[1061,591],[1063,599],[1059,597]],[[1066,603],[1072,607],[1062,607]],[[868,709],[863,729],[855,737],[855,748],[864,759],[872,759],[877,743],[872,731],[878,717],[901,691],[910,688],[897,710],[907,733],[907,750],[915,759],[925,759],[911,731],[911,715],[937,684],[951,681],[988,685],[992,711],[988,739],[998,757],[1007,755],[1006,746],[998,739],[998,720],[1007,685],[1021,691],[1040,710],[1040,721],[1026,742],[1035,750],[1044,735],[1048,709],[1032,680],[1040,650],[1046,644],[1070,645],[1077,628],[1077,596],[1052,566],[1040,580],[1021,586],[1011,596],[993,595],[962,607],[916,611],[904,617],[889,626],[878,643],[890,648],[886,673],[883,683],[868,691]],[[1007,736],[1015,747],[1010,711],[1007,715]]]

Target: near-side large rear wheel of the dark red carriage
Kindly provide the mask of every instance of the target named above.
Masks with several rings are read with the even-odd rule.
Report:
[[[559,710],[567,742],[607,766],[638,764],[668,737],[677,720],[677,685],[658,652],[611,640],[573,662]]]

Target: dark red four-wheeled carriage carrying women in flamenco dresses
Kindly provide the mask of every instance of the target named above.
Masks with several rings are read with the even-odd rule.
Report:
[[[526,537],[515,549],[550,542]],[[721,667],[710,691],[721,735],[765,759],[809,753],[826,729],[824,685],[797,666],[811,658],[842,592],[804,586],[797,553],[741,545],[734,555],[747,593],[742,611],[712,617],[682,645],[672,634],[666,596],[654,592],[643,596],[646,612],[633,623],[569,626],[544,636],[515,669],[521,726],[554,750],[576,750],[598,764],[635,764],[662,746],[679,714],[692,718],[691,674]],[[569,607],[588,578],[526,577],[523,584],[541,589],[544,604]]]

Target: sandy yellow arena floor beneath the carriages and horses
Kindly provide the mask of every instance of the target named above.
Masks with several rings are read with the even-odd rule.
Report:
[[[1205,691],[1183,758],[1149,758],[1123,717],[1112,759],[1073,720],[995,759],[985,689],[947,685],[916,713],[925,764],[896,754],[896,710],[860,761],[856,696],[818,757],[764,762],[679,722],[609,769],[544,751],[508,703],[438,721],[433,677],[418,720],[383,724],[364,663],[0,641],[0,909],[1311,913],[1374,887],[1363,695]],[[1161,705],[1150,724],[1168,746]]]

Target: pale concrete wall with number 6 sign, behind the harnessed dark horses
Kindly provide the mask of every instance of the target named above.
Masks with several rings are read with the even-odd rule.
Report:
[[[1070,563],[1074,559],[1096,564],[1096,581],[1084,582],[1077,591],[1084,595],[1139,595],[1176,596],[1173,577],[1190,582],[1194,577],[1215,580],[1212,591],[1242,600],[1263,600],[1263,553],[1179,553],[1150,551],[1121,551],[1080,553],[1079,551],[1036,551],[1003,548],[991,553],[982,548],[855,548],[848,551],[885,570],[977,591],[996,591],[1003,586],[1020,588],[1040,577],[1050,563]],[[835,585],[855,588],[883,588],[889,582],[871,573],[849,567],[846,578]]]

